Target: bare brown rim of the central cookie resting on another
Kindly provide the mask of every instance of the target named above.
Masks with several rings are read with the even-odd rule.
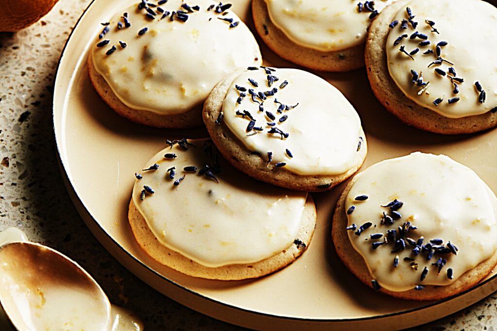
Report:
[[[280,186],[290,190],[322,192],[331,190],[334,186],[345,181],[361,167],[367,154],[367,143],[364,132],[361,131],[361,148],[356,153],[354,166],[347,172],[339,175],[297,175],[284,167],[277,168],[267,164],[265,155],[254,154],[246,149],[243,143],[223,123],[216,124],[216,119],[223,107],[229,87],[240,72],[221,80],[211,91],[204,103],[203,118],[212,141],[219,149],[223,157],[235,168],[248,176],[260,181]],[[359,142],[359,141],[357,141]]]

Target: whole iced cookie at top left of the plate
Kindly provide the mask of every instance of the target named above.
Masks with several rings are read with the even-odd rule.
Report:
[[[222,77],[261,64],[257,42],[230,10],[210,0],[142,1],[104,25],[88,71],[119,115],[163,128],[202,125],[202,104]]]

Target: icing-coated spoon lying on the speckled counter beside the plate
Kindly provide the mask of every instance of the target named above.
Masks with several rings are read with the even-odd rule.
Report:
[[[49,247],[22,242],[26,238],[12,230],[10,240],[16,242],[1,246],[7,241],[4,232],[0,233],[0,303],[17,330],[143,330],[127,311],[113,307],[74,261]]]

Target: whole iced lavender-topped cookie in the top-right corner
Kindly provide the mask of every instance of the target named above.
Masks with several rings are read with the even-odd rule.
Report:
[[[401,121],[443,134],[497,125],[497,8],[481,0],[402,0],[372,23],[366,66]]]

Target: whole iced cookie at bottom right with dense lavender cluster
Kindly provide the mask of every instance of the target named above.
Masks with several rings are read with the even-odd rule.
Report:
[[[343,263],[380,292],[439,300],[497,265],[497,199],[471,169],[445,155],[377,163],[336,204],[332,237]]]

